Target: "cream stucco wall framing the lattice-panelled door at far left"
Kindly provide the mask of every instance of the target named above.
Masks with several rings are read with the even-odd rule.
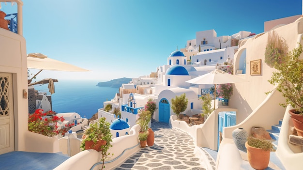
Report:
[[[0,28],[0,72],[13,74],[15,150],[25,151],[24,135],[28,131],[28,98],[23,98],[27,86],[26,41],[23,36]],[[14,146],[12,146],[14,149]]]

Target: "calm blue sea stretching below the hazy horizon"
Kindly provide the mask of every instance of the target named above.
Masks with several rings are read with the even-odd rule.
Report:
[[[76,112],[82,118],[90,119],[103,102],[109,101],[119,93],[119,88],[99,87],[96,80],[58,80],[54,82],[55,93],[52,96],[52,110],[57,113]],[[35,90],[46,92],[48,84],[35,86]]]

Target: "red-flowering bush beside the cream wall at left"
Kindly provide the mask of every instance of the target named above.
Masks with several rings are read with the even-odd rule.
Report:
[[[74,124],[65,124],[62,129],[58,129],[57,123],[64,122],[64,118],[56,116],[54,111],[43,113],[43,109],[36,109],[29,115],[29,131],[39,133],[48,137],[64,135]]]

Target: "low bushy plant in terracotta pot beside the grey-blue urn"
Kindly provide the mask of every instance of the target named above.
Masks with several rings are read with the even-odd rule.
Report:
[[[256,170],[264,170],[268,167],[270,154],[275,151],[271,141],[250,136],[245,142],[245,147],[251,167]]]

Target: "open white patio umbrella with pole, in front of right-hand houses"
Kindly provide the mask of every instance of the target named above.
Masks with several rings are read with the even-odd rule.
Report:
[[[214,84],[214,107],[216,104],[216,85],[217,84],[227,84],[227,83],[240,83],[246,80],[236,77],[234,75],[228,74],[225,71],[215,69],[210,73],[205,75],[190,79],[185,81],[192,84]]]

